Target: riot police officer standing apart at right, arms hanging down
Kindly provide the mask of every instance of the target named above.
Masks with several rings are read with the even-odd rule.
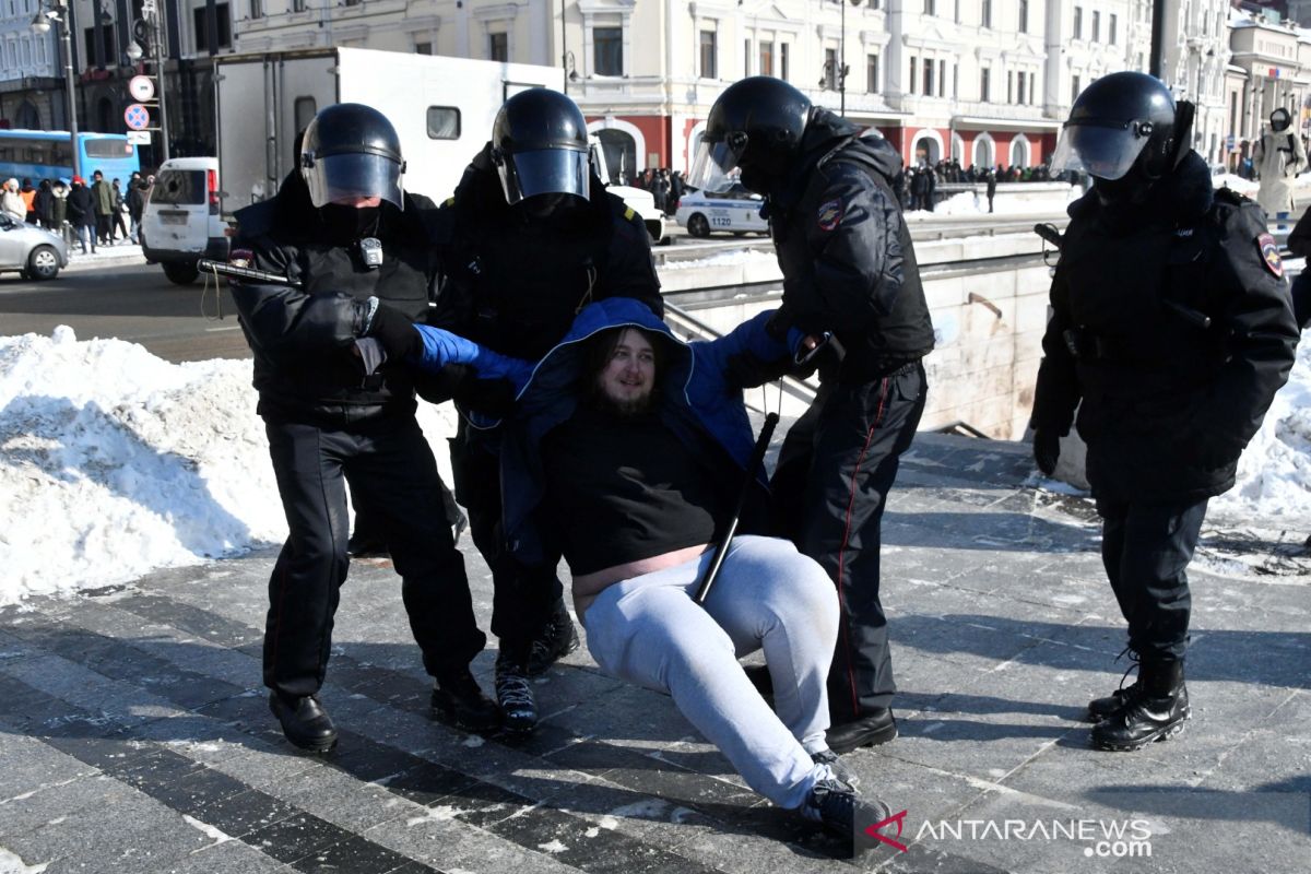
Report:
[[[1103,563],[1139,660],[1134,684],[1088,705],[1100,750],[1163,740],[1190,715],[1185,569],[1298,341],[1265,216],[1211,189],[1192,119],[1159,80],[1113,73],[1075,100],[1051,157],[1093,185],[1070,207],[1051,283],[1033,449],[1050,473],[1078,408]]]

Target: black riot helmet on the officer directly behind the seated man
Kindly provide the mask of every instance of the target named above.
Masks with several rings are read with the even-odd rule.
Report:
[[[492,124],[492,162],[506,203],[528,198],[587,199],[587,122],[578,105],[549,88],[530,88],[505,101]]]

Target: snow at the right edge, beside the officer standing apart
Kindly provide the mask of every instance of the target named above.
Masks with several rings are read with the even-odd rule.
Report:
[[[1311,519],[1311,330],[1302,334],[1289,383],[1238,466],[1238,485],[1211,502],[1217,515],[1273,522]]]

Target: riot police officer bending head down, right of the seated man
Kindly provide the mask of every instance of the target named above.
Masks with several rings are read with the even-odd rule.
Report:
[[[714,191],[739,174],[764,195],[784,278],[773,329],[838,341],[821,359],[819,393],[788,432],[772,484],[785,533],[840,595],[829,674],[829,746],[838,752],[897,736],[880,524],[924,410],[920,359],[933,349],[891,187],[901,166],[885,140],[860,136],[781,80],[755,76],[714,101],[690,178]]]

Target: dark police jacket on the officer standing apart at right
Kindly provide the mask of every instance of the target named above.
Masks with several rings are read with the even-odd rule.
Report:
[[[1298,330],[1265,216],[1190,152],[1146,203],[1070,206],[1033,425],[1078,413],[1093,495],[1197,501],[1234,485]]]

